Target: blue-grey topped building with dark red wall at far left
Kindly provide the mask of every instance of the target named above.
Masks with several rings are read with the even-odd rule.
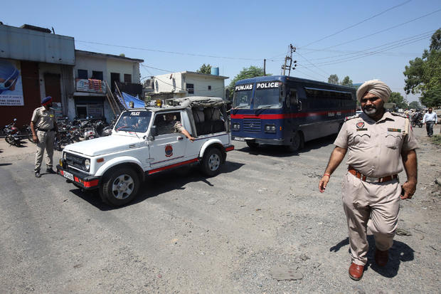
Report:
[[[0,23],[0,125],[28,124],[41,98],[52,96],[58,115],[73,93],[74,38],[47,28]]]

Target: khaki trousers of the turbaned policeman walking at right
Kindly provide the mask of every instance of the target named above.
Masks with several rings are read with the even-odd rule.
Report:
[[[363,182],[347,172],[341,191],[352,262],[364,266],[368,261],[367,227],[379,250],[392,246],[400,210],[400,183],[398,179],[384,183]]]

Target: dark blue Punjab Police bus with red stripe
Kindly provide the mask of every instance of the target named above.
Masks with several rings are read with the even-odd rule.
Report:
[[[355,113],[355,88],[287,75],[248,78],[235,84],[231,135],[251,148],[284,145],[294,152],[339,132]]]

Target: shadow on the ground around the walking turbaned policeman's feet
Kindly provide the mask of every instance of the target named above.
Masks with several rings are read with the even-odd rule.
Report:
[[[400,263],[403,261],[413,261],[413,253],[415,252],[406,243],[400,241],[393,241],[392,248],[389,249],[389,261],[384,267],[377,266],[374,261],[375,253],[375,240],[373,235],[368,235],[369,252],[368,252],[368,263],[366,265],[365,271],[371,268],[376,273],[383,275],[386,278],[393,278],[398,274],[398,269],[400,268]],[[349,238],[340,241],[335,246],[329,248],[329,251],[337,252],[341,247],[349,245]],[[349,248],[348,248],[349,250]]]

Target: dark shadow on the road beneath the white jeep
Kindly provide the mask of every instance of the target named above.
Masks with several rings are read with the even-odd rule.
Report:
[[[221,167],[221,174],[234,172],[236,169],[240,169],[240,167],[243,165],[244,164],[237,162],[228,162],[227,160],[223,167]],[[137,204],[145,199],[158,196],[169,191],[184,190],[186,189],[184,186],[191,182],[204,182],[210,187],[215,187],[215,185],[211,184],[210,179],[211,178],[206,177],[199,171],[198,166],[181,167],[169,172],[153,174],[152,176],[146,177],[144,183],[142,183],[139,187],[138,196],[125,206]],[[103,203],[97,190],[82,191],[81,189],[71,189],[70,191],[81,199],[97,207],[97,209],[100,209],[101,211],[109,211],[119,208]]]

